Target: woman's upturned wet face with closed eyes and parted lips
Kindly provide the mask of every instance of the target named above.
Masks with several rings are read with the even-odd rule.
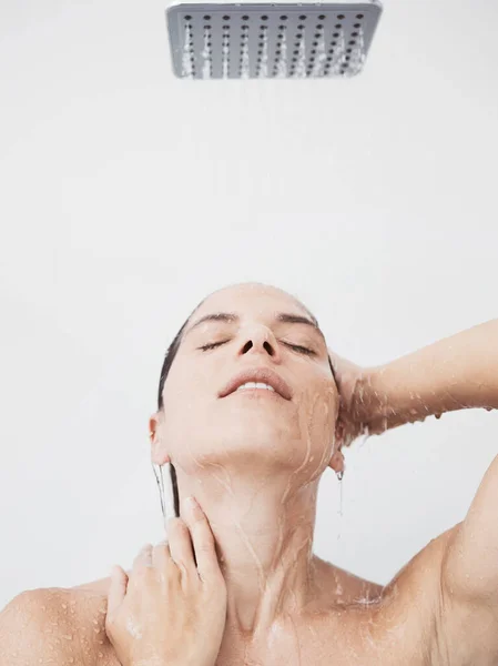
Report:
[[[199,323],[218,313],[227,316]],[[335,452],[338,411],[327,346],[314,325],[283,321],[282,314],[312,322],[298,301],[266,285],[230,286],[204,301],[164,383],[164,413],[153,417],[153,462],[171,461],[194,476],[213,465],[213,473],[293,473],[303,483],[324,472]],[[276,373],[289,394],[220,396],[241,371],[261,369]]]

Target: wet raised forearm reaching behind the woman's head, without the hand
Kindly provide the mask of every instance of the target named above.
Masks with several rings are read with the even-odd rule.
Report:
[[[498,408],[498,320],[368,369],[352,405],[373,434],[470,407]]]

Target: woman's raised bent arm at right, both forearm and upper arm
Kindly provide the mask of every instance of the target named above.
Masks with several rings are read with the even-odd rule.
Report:
[[[379,434],[455,410],[498,408],[498,320],[385,366],[357,369],[353,383],[352,372],[349,366],[354,391],[345,402],[353,434],[366,427]],[[496,444],[498,453],[498,432]],[[451,529],[438,594],[445,663],[498,664],[498,456],[465,519]]]

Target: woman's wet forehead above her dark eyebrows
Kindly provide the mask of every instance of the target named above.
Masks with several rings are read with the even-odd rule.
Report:
[[[205,299],[192,320],[211,312],[236,312],[247,316],[272,316],[277,311],[313,316],[299,301],[283,290],[263,284],[227,286]]]

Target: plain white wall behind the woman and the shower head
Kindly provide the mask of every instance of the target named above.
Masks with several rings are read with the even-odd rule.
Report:
[[[162,537],[164,352],[255,280],[376,364],[497,316],[498,4],[386,0],[346,81],[181,81],[164,7],[0,4],[0,607]],[[315,551],[387,583],[464,518],[497,413],[405,426],[326,473]]]

